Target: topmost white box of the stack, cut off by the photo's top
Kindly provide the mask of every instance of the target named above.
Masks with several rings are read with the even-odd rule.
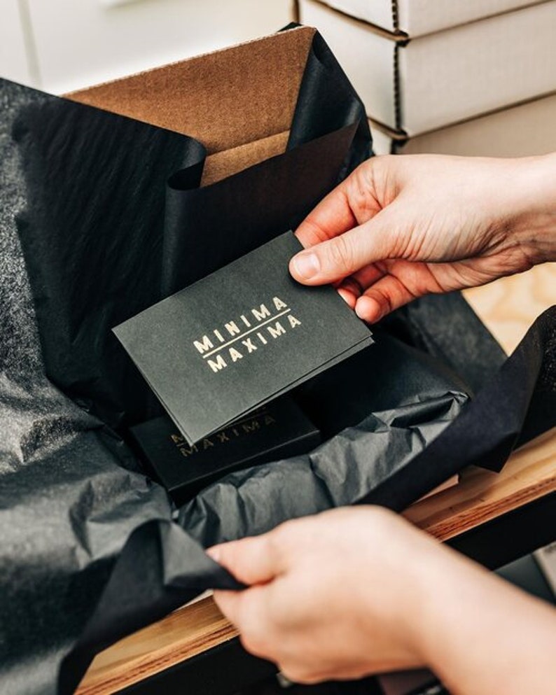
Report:
[[[326,0],[326,4],[394,34],[415,37],[536,5],[542,1]]]

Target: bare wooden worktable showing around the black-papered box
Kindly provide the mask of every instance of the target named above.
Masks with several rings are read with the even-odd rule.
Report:
[[[556,264],[466,292],[506,352],[556,302]],[[556,490],[556,430],[522,447],[499,474],[471,467],[457,485],[412,505],[405,516],[446,540]],[[78,695],[111,695],[148,675],[230,640],[235,629],[211,598],[188,605],[121,640],[93,661]]]

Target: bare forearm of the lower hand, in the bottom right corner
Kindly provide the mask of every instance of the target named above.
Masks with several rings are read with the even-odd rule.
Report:
[[[556,610],[447,550],[426,574],[415,639],[450,692],[555,692]]]

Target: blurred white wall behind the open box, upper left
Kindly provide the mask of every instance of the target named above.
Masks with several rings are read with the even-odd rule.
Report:
[[[27,55],[22,52],[22,6]],[[292,0],[0,0],[0,74],[59,94],[277,31]],[[25,24],[25,22],[24,22]],[[19,50],[18,50],[19,47]],[[38,74],[29,73],[36,58]]]

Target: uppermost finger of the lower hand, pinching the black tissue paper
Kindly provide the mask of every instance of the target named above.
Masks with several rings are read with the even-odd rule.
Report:
[[[278,556],[269,542],[270,534],[235,540],[215,545],[207,550],[232,575],[244,584],[263,584],[270,582],[282,568]]]

